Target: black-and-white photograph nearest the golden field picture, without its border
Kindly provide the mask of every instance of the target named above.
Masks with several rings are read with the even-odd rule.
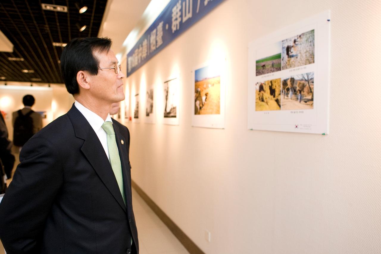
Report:
[[[176,117],[178,93],[176,79],[164,82],[164,117]]]

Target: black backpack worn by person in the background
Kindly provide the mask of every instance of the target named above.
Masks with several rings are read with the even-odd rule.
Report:
[[[34,111],[30,110],[26,115],[21,113],[21,109],[17,112],[19,115],[13,125],[13,144],[23,146],[33,136],[33,119],[30,115]]]

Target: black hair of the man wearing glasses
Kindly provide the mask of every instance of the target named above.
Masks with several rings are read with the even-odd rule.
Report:
[[[109,38],[75,38],[64,48],[61,55],[61,74],[66,85],[67,92],[75,95],[79,93],[77,82],[78,71],[88,71],[97,75],[99,59],[93,52],[108,52],[111,48]]]

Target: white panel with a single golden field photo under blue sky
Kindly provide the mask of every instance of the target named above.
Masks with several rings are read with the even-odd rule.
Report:
[[[192,126],[224,129],[225,61],[202,64],[193,72]]]

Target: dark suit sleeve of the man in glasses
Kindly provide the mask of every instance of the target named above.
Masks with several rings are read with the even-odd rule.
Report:
[[[37,253],[45,220],[63,182],[63,163],[50,141],[34,137],[0,203],[0,238],[7,253]]]

